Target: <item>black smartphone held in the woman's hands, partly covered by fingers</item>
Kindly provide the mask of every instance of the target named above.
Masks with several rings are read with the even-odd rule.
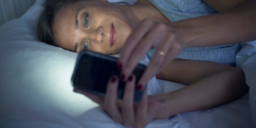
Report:
[[[119,76],[120,70],[117,69],[117,57],[96,53],[93,51],[82,51],[79,53],[75,69],[71,78],[74,88],[84,90],[98,95],[105,95],[108,79],[112,75]],[[144,69],[143,64],[138,64],[133,71],[136,76],[136,83],[141,77]],[[122,99],[124,94],[125,82],[119,80],[117,98]],[[139,102],[143,96],[143,91],[135,89],[134,102]]]

